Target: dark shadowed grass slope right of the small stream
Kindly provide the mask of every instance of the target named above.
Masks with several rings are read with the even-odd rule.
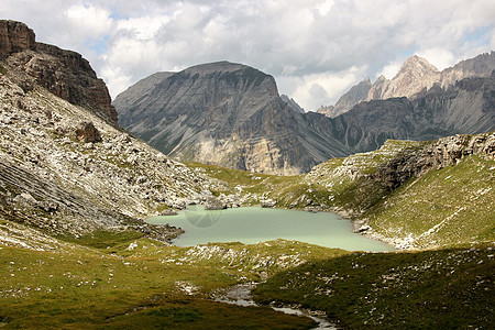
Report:
[[[494,267],[493,248],[354,253],[278,273],[254,294],[351,329],[490,329]]]

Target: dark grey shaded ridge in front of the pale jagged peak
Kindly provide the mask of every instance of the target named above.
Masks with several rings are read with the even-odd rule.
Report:
[[[327,121],[315,112],[307,117],[353,152],[376,150],[388,139],[424,141],[490,132],[495,130],[495,73],[464,78],[447,90],[435,85],[411,99],[362,101]]]

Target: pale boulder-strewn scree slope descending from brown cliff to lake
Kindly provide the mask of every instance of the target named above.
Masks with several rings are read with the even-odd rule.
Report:
[[[19,37],[19,31],[30,32],[20,23],[3,24],[13,33],[10,41]],[[206,199],[209,178],[130,136],[105,109],[75,106],[53,94],[44,78],[24,72],[30,66],[13,66],[22,56],[46,59],[46,50],[57,50],[35,47],[0,62],[0,218],[72,237],[109,229],[138,230],[161,240],[178,234],[179,230],[148,226],[142,219]],[[76,59],[74,66],[63,65],[67,55]],[[62,66],[43,66],[43,77],[72,91],[77,86],[91,90],[86,86],[90,81],[78,75],[79,64],[87,62],[73,55],[52,53],[51,63]],[[65,78],[56,80],[61,72],[81,81],[64,85]]]

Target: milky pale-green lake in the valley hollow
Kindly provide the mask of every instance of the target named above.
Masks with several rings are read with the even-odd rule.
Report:
[[[350,220],[328,212],[305,212],[263,208],[206,211],[189,206],[177,216],[153,217],[150,223],[169,223],[186,232],[175,239],[177,246],[209,242],[256,243],[276,239],[300,241],[349,251],[394,251],[394,248],[352,232]]]

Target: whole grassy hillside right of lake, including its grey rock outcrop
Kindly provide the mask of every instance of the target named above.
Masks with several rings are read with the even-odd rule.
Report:
[[[305,180],[328,191],[329,201],[314,198],[317,205],[359,219],[362,231],[425,249],[493,241],[494,169],[495,133],[487,133],[388,141],[316,166]]]

